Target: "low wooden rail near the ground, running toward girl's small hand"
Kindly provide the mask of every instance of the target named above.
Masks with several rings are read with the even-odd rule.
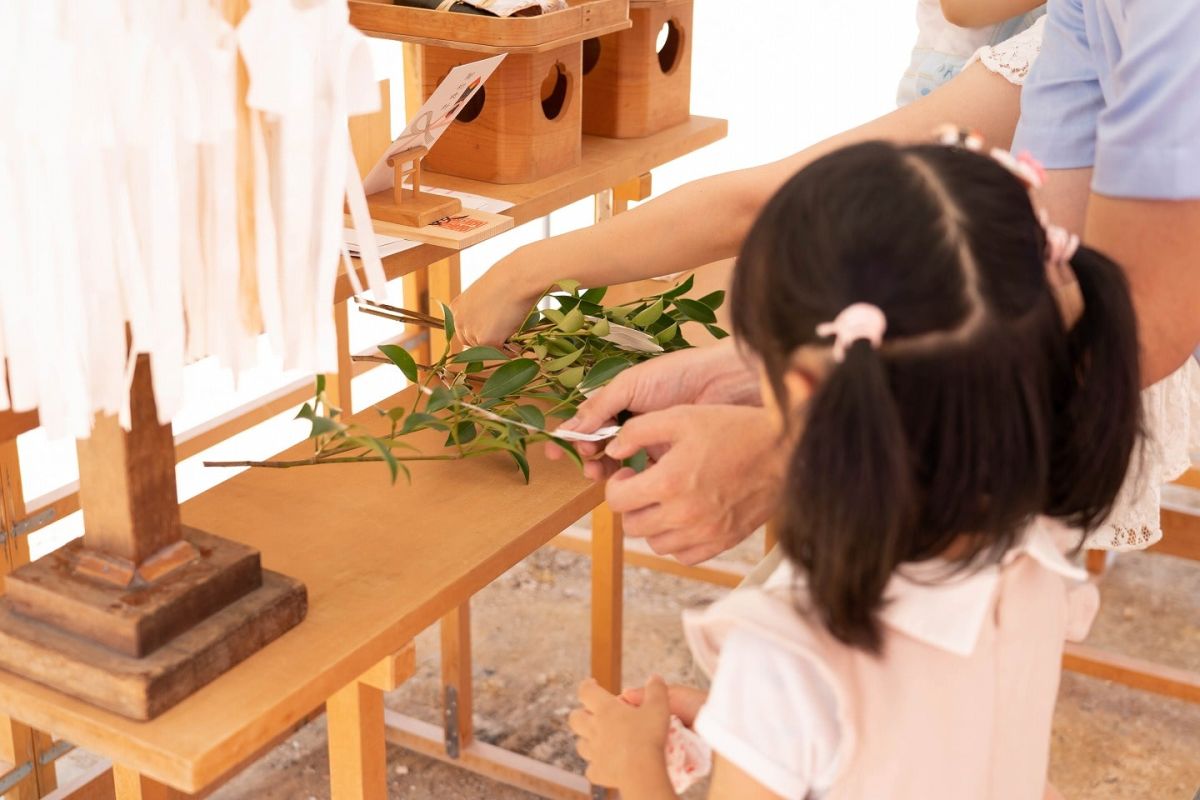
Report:
[[[592,787],[574,772],[545,764],[528,756],[475,741],[463,747],[457,759],[445,753],[442,728],[390,709],[384,710],[386,738],[394,745],[436,758],[499,783],[532,792],[550,800],[588,800]]]

